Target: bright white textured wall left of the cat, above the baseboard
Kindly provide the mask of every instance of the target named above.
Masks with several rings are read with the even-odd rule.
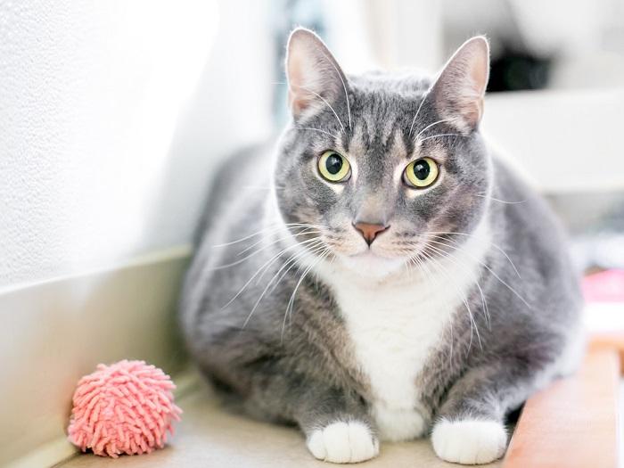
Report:
[[[0,290],[189,241],[267,134],[266,3],[0,0]]]

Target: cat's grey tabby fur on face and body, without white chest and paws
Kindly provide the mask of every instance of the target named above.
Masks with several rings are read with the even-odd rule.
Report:
[[[317,47],[337,67],[329,52]],[[385,73],[347,78],[326,64],[323,70],[333,81],[318,94],[340,122],[324,103],[295,112],[275,149],[245,152],[219,172],[181,302],[188,348],[250,415],[296,423],[307,435],[341,419],[363,421],[374,431],[369,382],[358,370],[332,285],[312,270],[300,283],[308,264],[296,259],[287,264],[300,252],[292,239],[310,241],[318,233],[279,226],[324,226],[323,246],[329,248],[324,261],[331,261],[357,219],[390,224],[384,236],[413,246],[419,233],[470,234],[487,218],[493,242],[479,281],[489,320],[475,281],[467,298],[475,324],[464,306],[456,311],[452,338],[445,333],[431,350],[415,385],[430,424],[440,417],[504,421],[533,391],[573,368],[561,357],[576,339],[581,300],[560,227],[545,202],[491,155],[475,122],[442,122],[423,134],[451,134],[423,141],[424,152],[439,155],[444,178],[409,198],[406,187],[393,180],[394,168],[410,160],[417,131],[461,114],[461,105],[445,100],[436,86],[426,94],[428,78]],[[341,74],[348,94],[333,71]],[[314,171],[318,154],[329,148],[357,159],[357,185],[345,183],[341,193]],[[462,245],[469,237],[437,239]],[[215,247],[224,242],[234,243]],[[434,257],[452,254],[437,245]],[[275,275],[281,279],[270,283]]]

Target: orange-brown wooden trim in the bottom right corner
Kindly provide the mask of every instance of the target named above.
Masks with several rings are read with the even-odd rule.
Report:
[[[527,401],[503,466],[617,467],[619,380],[619,350],[590,348],[577,374]]]

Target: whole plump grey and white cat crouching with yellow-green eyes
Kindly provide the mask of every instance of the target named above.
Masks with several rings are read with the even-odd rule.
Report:
[[[194,359],[328,462],[430,433],[449,462],[497,459],[505,415],[582,339],[560,228],[479,132],[488,42],[434,80],[347,76],[296,29],[286,74],[279,144],[210,196],[181,306]]]

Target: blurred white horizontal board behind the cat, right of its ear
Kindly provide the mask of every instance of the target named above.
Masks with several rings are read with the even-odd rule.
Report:
[[[600,193],[624,189],[622,121],[624,88],[492,93],[482,130],[539,190]]]

